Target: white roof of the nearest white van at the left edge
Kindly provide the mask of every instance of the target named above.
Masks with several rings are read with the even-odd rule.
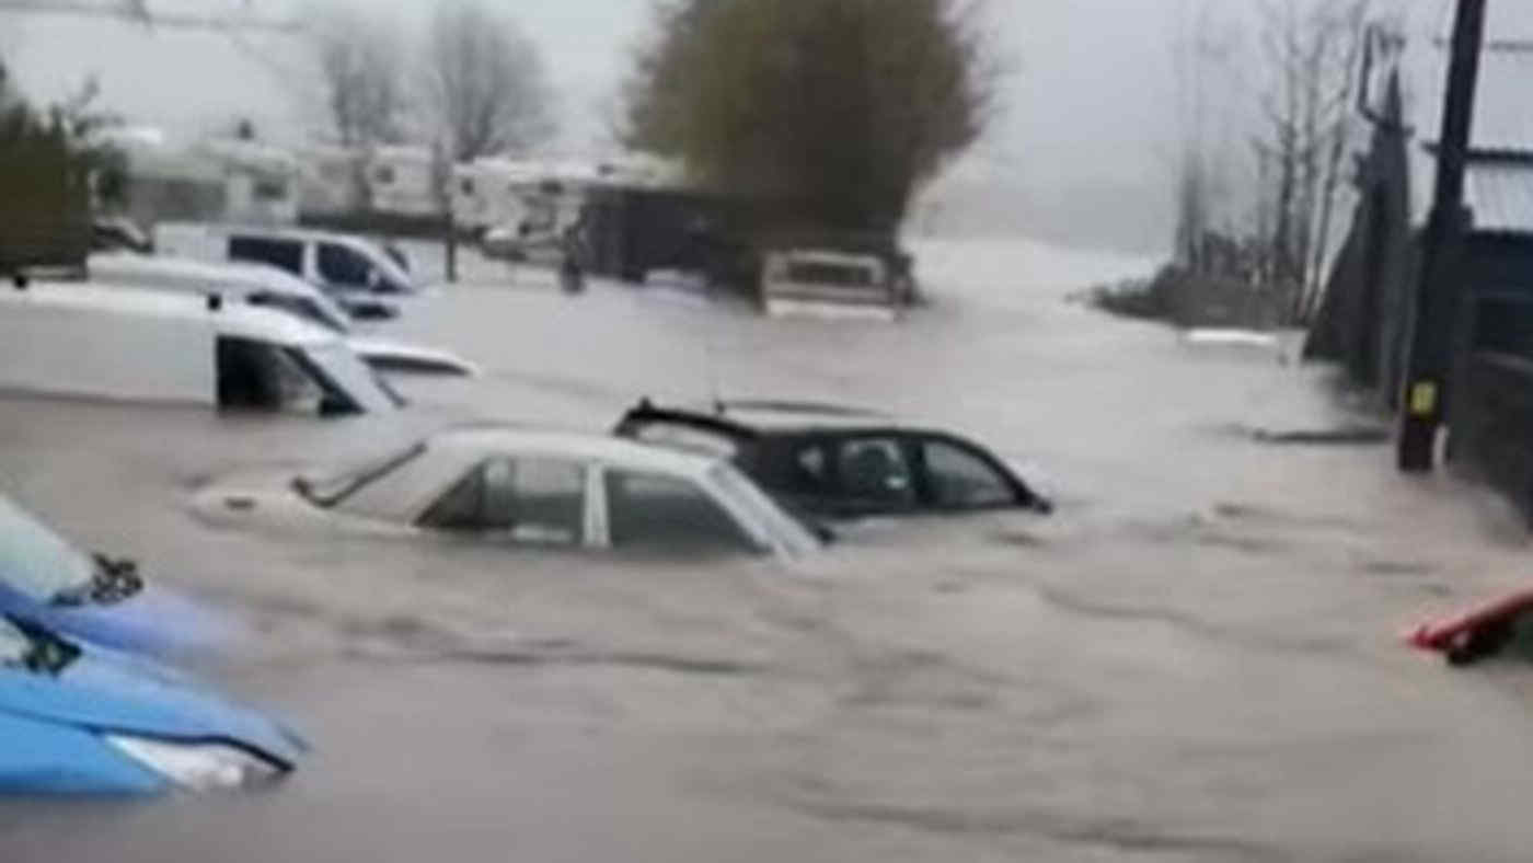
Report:
[[[95,310],[103,314],[213,323],[221,336],[261,339],[277,345],[339,342],[334,333],[281,311],[242,302],[225,302],[218,311],[210,311],[204,296],[144,290],[133,285],[34,282],[25,290],[0,288],[0,305],[20,302]]]

